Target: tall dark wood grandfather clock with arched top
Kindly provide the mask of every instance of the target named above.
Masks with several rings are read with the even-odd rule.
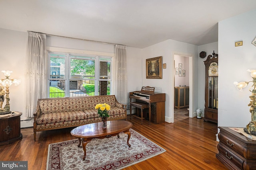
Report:
[[[205,64],[204,121],[218,123],[218,54],[208,55]]]

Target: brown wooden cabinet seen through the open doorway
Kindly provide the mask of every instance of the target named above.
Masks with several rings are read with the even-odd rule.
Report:
[[[189,107],[189,87],[174,87],[174,107]]]

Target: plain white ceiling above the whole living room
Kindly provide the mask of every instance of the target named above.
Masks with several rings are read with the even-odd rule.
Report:
[[[218,21],[256,0],[0,0],[0,28],[144,48],[218,41]]]

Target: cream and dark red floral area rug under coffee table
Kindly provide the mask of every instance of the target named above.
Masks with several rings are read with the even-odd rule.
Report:
[[[119,170],[166,151],[133,129],[130,132],[130,148],[124,133],[120,133],[120,138],[92,139],[86,145],[84,161],[82,145],[77,147],[78,139],[52,143],[46,170]]]

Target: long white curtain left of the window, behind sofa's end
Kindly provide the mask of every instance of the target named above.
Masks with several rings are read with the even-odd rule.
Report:
[[[46,34],[27,31],[26,51],[26,113],[25,117],[34,117],[37,100],[47,94],[47,55]]]

